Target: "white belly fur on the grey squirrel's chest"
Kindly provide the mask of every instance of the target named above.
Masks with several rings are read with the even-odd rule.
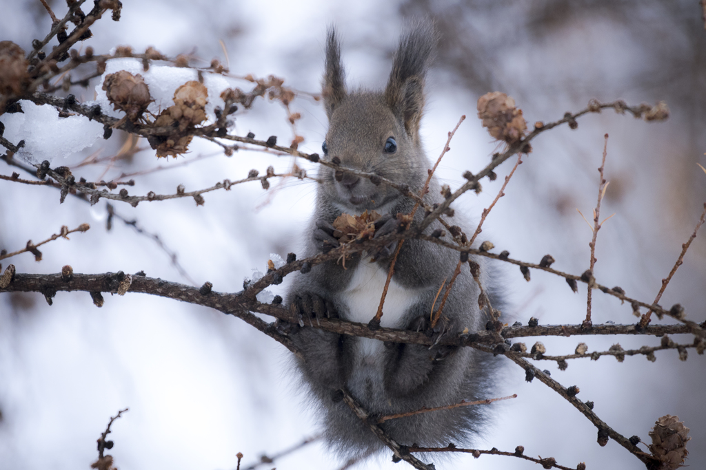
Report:
[[[378,311],[380,297],[383,295],[385,280],[388,271],[383,270],[377,263],[369,259],[361,261],[348,287],[342,292],[341,297],[349,312],[349,320],[358,323],[368,323]],[[406,289],[390,280],[388,294],[383,304],[383,316],[380,325],[388,328],[399,328],[400,320],[405,312],[412,307],[421,292]],[[358,338],[362,356],[375,355],[382,342],[371,338]]]

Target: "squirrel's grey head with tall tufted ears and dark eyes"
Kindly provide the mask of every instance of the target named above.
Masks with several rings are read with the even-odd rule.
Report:
[[[424,111],[424,77],[436,41],[432,25],[412,25],[400,38],[385,90],[349,92],[340,44],[335,30],[329,30],[323,76],[329,128],[322,147],[325,159],[337,163],[340,170],[321,167],[320,191],[342,211],[386,211],[402,197],[395,188],[376,185],[345,168],[375,173],[412,190],[424,185],[428,162],[419,139],[419,121]]]

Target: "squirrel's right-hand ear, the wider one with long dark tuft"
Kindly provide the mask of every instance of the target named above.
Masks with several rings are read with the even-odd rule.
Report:
[[[385,88],[385,101],[415,140],[424,110],[424,78],[437,42],[438,33],[432,23],[419,21],[407,25]]]

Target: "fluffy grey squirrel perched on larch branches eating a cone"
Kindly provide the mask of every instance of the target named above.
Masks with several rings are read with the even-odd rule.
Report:
[[[424,80],[436,47],[437,33],[429,23],[410,25],[403,32],[393,58],[393,68],[383,92],[351,91],[345,86],[340,43],[333,28],[328,31],[323,76],[323,99],[329,129],[323,143],[324,159],[335,157],[340,167],[376,173],[419,192],[431,168],[419,137],[424,109]],[[375,210],[381,218],[381,233],[397,228],[394,214],[409,214],[414,202],[395,188],[375,185],[351,173],[335,174],[321,166],[318,192],[304,256],[313,256],[337,246],[332,223],[342,213],[361,214]],[[428,204],[441,202],[440,187],[431,179]],[[391,214],[391,215],[390,215]],[[424,210],[417,211],[419,223]],[[468,232],[454,216],[453,223]],[[435,221],[424,233],[443,228]],[[377,235],[377,233],[376,233]],[[392,255],[397,244],[371,254],[355,254],[345,267],[334,261],[297,273],[285,304],[300,319],[289,325],[294,345],[304,360],[297,361],[301,377],[316,407],[321,409],[329,447],[344,457],[361,457],[384,445],[340,400],[347,390],[371,414],[383,416],[412,412],[422,407],[440,407],[462,400],[491,397],[496,361],[491,354],[470,347],[384,343],[369,338],[338,335],[312,326],[316,318],[341,318],[368,323],[375,316]],[[367,255],[367,256],[366,256]],[[364,257],[361,257],[364,256]],[[430,313],[441,285],[453,275],[459,252],[422,240],[405,240],[395,265],[383,307],[381,326],[426,331],[436,335],[459,335],[484,328],[487,318],[478,307],[479,288],[465,264],[443,309],[443,322],[430,328]],[[481,266],[481,280],[493,295],[488,266]],[[439,297],[441,299],[441,297]],[[437,303],[438,307],[438,303]],[[313,323],[312,323],[313,321]],[[483,407],[485,408],[485,407]],[[481,407],[458,407],[427,412],[381,424],[401,445],[445,447],[467,442],[484,426]]]

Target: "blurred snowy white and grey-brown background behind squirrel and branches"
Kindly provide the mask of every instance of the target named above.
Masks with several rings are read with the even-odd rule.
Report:
[[[49,4],[56,16],[66,13],[64,2]],[[40,1],[0,0],[0,10],[0,40],[16,42],[25,51],[32,39],[49,31],[51,20]],[[341,32],[349,86],[381,88],[405,20],[433,18],[442,40],[427,82],[422,121],[430,158],[441,152],[459,117],[468,117],[438,171],[452,188],[462,184],[464,171],[483,168],[498,150],[476,117],[476,101],[486,92],[513,97],[530,128],[537,120],[558,120],[566,111],[583,109],[591,98],[624,99],[632,105],[665,100],[671,116],[664,123],[604,111],[581,118],[577,130],[563,126],[538,137],[481,235],[498,252],[508,249],[517,259],[538,262],[551,253],[554,267],[585,271],[591,230],[575,209],[590,219],[607,132],[610,185],[602,215],[615,215],[599,233],[594,273],[600,283],[620,285],[631,297],[652,302],[706,201],[706,174],[696,165],[706,166],[706,30],[701,15],[695,0],[124,1],[121,20],[100,20],[83,44],[97,53],[118,45],[135,51],[152,46],[169,56],[191,54],[204,66],[212,58],[227,60],[234,75],[285,78],[285,86],[302,92],[291,105],[303,116],[297,122],[297,133],[305,138],[299,148],[319,151],[325,114],[305,92],[319,91],[327,25]],[[232,81],[242,89],[251,87],[244,80]],[[73,92],[90,101],[96,90],[99,80]],[[277,135],[282,144],[294,137],[277,102],[260,99],[236,118],[238,135]],[[8,119],[0,116],[0,122]],[[44,125],[47,129],[42,121],[26,123],[22,138],[41,140],[51,127],[49,121]],[[89,132],[85,120],[76,129]],[[208,142],[193,142],[191,152],[179,159],[157,161],[146,142],[128,141],[121,132],[80,151],[68,151],[72,147],[66,142],[37,145],[49,153],[40,160],[51,157],[52,166],[76,167],[73,174],[89,181],[164,167],[131,177],[136,180],[128,188],[131,194],[169,194],[179,184],[196,190],[224,178],[245,178],[251,168],[263,173],[273,165],[287,171],[294,163],[290,156],[261,151],[227,157]],[[86,159],[94,163],[78,167]],[[314,170],[306,162],[297,164]],[[510,167],[508,161],[495,182],[484,181],[479,196],[462,197],[457,211],[477,219]],[[0,173],[12,171],[0,163]],[[137,208],[114,204],[119,216],[136,224],[114,217],[108,230],[104,201],[90,207],[68,197],[59,204],[53,188],[0,181],[0,247],[15,251],[27,240],[58,233],[61,225],[74,228],[86,222],[92,227],[70,235],[70,241],[42,247],[39,263],[31,254],[20,254],[3,264],[15,264],[20,273],[56,273],[65,264],[76,273],[144,270],[150,277],[182,283],[208,280],[215,290],[234,292],[254,268],[265,270],[270,254],[299,250],[315,190],[316,183],[289,178],[273,181],[268,192],[259,183],[211,192],[204,195],[204,206],[191,199]],[[701,234],[695,240],[660,302],[666,307],[681,303],[695,321],[706,319],[705,239]],[[515,267],[502,268],[513,305],[508,320],[582,321],[585,286],[573,294],[561,278],[533,271],[527,283]],[[286,281],[277,287],[276,292],[286,290]],[[599,292],[593,312],[594,323],[637,320],[629,305]],[[659,338],[640,337],[542,341],[548,354],[570,354],[581,341],[590,351],[607,350],[618,341],[625,349],[659,345]],[[526,342],[531,346],[533,340]],[[686,362],[678,360],[676,351],[656,355],[654,364],[639,356],[623,363],[611,357],[578,359],[566,371],[549,362],[537,366],[549,369],[565,386],[578,385],[579,397],[594,401],[594,411],[628,437],[638,435],[649,443],[647,433],[659,416],[678,415],[693,437],[687,464],[701,468],[706,465],[705,360],[694,350]],[[88,468],[97,457],[95,440],[109,417],[124,407],[130,411],[114,423],[110,435],[115,442],[110,454],[121,470],[234,469],[238,452],[247,466],[263,453],[275,454],[318,433],[316,409],[306,406],[288,364],[287,351],[270,338],[201,307],[126,295],[106,296],[104,307],[97,309],[88,294],[66,292],[59,292],[49,307],[40,294],[2,294],[0,467]],[[478,448],[512,451],[524,445],[527,455],[551,456],[570,467],[586,462],[588,469],[643,468],[612,440],[599,447],[594,426],[539,381],[526,383],[521,369],[508,364],[498,380],[499,395],[518,397],[492,405],[496,417],[474,443]],[[356,468],[393,468],[389,460],[387,452]],[[534,467],[496,456],[436,463],[439,469]],[[263,468],[338,469],[344,464],[321,443],[313,443]]]

